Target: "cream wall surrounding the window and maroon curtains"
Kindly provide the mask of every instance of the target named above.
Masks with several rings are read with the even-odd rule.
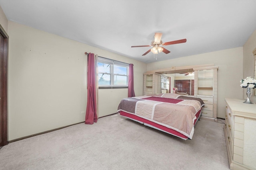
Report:
[[[8,140],[82,122],[86,110],[84,52],[134,64],[136,95],[146,64],[44,31],[8,22]],[[127,89],[99,90],[99,117],[116,113]]]

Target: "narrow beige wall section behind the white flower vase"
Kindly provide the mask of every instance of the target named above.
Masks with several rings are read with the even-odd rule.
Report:
[[[252,54],[252,51],[256,48],[256,30],[252,35],[249,37],[249,39],[246,41],[243,47],[243,78],[246,77],[253,77],[254,76],[254,58],[255,56]],[[254,89],[256,90],[256,89]],[[243,95],[244,99],[247,98],[246,96],[246,89],[243,89]],[[256,103],[256,97],[251,96],[252,102]]]

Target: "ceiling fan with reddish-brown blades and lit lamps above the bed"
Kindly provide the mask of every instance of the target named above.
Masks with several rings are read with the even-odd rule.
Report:
[[[161,47],[162,45],[186,43],[186,41],[187,41],[187,39],[180,39],[180,40],[176,40],[176,41],[170,41],[170,42],[163,43],[161,38],[162,38],[162,33],[155,33],[154,40],[151,41],[150,45],[137,45],[137,46],[132,46],[132,47],[153,47],[152,49],[149,49],[146,53],[144,53],[142,55],[146,55],[150,51],[154,54],[158,54],[161,52],[168,54],[168,53],[170,53],[170,51],[168,51],[164,47]]]

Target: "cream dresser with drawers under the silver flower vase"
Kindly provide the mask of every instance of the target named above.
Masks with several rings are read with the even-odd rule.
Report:
[[[256,169],[256,104],[225,98],[224,134],[230,169]]]

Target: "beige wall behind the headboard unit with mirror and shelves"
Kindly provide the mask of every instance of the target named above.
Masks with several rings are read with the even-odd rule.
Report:
[[[217,117],[225,118],[224,98],[242,98],[240,80],[243,76],[243,48],[227,49],[192,55],[167,61],[149,63],[147,70],[171,68],[172,66],[189,66],[215,64],[218,69],[218,101]]]

